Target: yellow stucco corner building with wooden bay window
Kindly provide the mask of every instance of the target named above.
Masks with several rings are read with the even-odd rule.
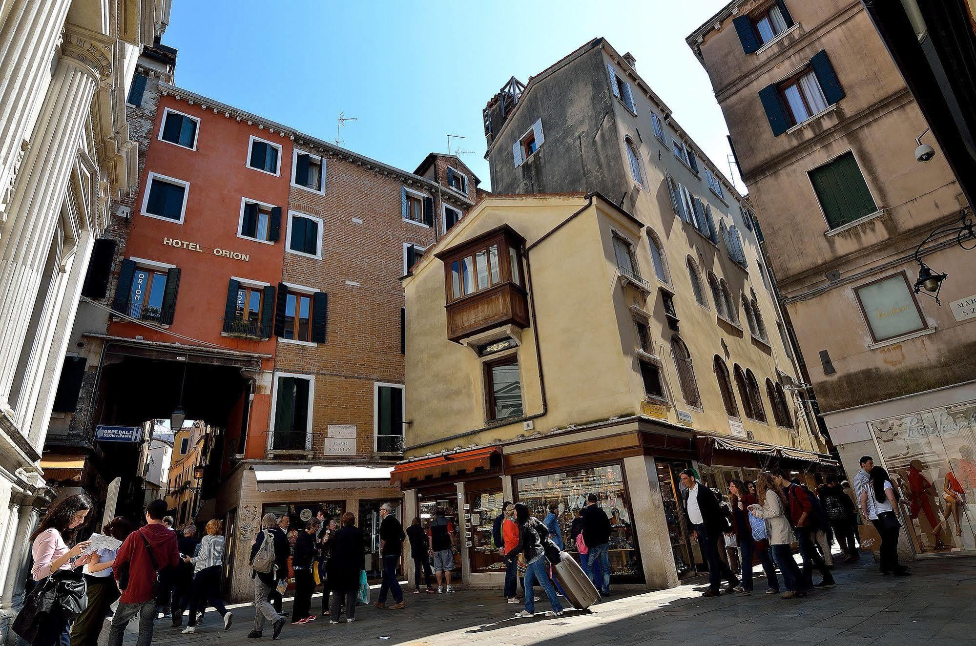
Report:
[[[704,565],[680,469],[724,490],[774,461],[833,468],[749,206],[634,65],[597,38],[511,79],[485,108],[502,194],[404,280],[410,424],[393,478],[407,517],[448,510],[468,585],[503,583],[504,500],[539,517],[557,503],[568,538],[596,494],[611,585],[659,588]]]

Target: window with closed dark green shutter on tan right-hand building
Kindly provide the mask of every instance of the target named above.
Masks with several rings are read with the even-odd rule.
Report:
[[[809,172],[824,217],[831,228],[854,222],[877,211],[852,151]]]

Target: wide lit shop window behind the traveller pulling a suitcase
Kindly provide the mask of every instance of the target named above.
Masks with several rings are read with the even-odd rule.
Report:
[[[620,464],[518,478],[517,490],[518,501],[528,505],[529,511],[539,520],[549,513],[550,503],[559,505],[556,516],[566,543],[565,550],[577,559],[576,545],[569,540],[573,518],[586,505],[587,496],[596,494],[597,505],[610,518],[611,583],[643,583],[644,570],[640,565],[630,498]]]

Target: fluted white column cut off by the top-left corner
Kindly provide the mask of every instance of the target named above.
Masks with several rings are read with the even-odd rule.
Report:
[[[70,6],[71,0],[13,0],[0,25],[0,222]]]

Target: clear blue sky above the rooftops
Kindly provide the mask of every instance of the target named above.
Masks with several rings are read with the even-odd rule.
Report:
[[[163,43],[177,85],[327,141],[345,112],[341,145],[408,171],[465,136],[451,149],[487,187],[485,102],[604,36],[727,176],[728,131],[684,42],[725,3],[174,0]]]

